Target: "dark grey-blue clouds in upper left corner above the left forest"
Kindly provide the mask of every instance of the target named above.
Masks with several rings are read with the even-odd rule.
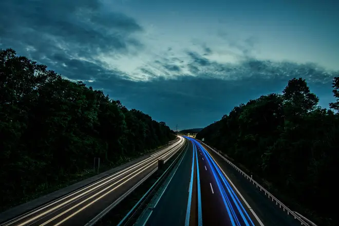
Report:
[[[14,48],[67,78],[88,79],[105,70],[99,54],[119,57],[143,48],[135,36],[143,28],[98,0],[4,0],[0,8],[6,9],[0,15],[0,47]]]

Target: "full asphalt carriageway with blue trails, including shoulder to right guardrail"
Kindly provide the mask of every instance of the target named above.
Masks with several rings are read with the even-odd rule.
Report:
[[[145,225],[298,225],[212,150],[190,140],[183,161]]]

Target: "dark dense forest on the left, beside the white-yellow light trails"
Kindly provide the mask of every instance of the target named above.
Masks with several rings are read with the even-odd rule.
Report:
[[[164,122],[101,90],[0,50],[0,210],[92,169],[175,139]]]

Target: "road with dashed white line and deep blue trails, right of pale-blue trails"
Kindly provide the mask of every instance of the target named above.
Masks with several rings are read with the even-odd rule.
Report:
[[[204,224],[262,226],[261,221],[256,220],[248,206],[238,197],[239,194],[234,191],[235,188],[221,173],[215,160],[200,143],[195,140],[193,142],[198,152],[201,153],[199,168],[201,169]]]

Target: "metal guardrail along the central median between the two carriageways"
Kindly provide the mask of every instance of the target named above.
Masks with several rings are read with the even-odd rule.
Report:
[[[188,147],[188,142],[182,149],[181,153],[177,158],[171,163],[170,166],[165,170],[165,172],[158,178],[158,180],[150,187],[150,189],[141,197],[141,199],[135,204],[135,206],[127,213],[127,215],[120,221],[118,226],[127,226],[131,224],[131,220],[140,213],[148,204],[148,202],[153,198],[154,194],[157,192],[159,186],[162,185],[162,182],[166,179],[166,176],[171,172],[172,168],[176,165],[181,155],[184,153],[185,149]]]

